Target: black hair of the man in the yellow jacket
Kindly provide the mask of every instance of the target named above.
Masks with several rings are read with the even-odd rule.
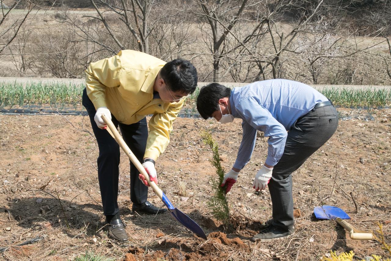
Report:
[[[166,63],[160,70],[160,76],[173,92],[192,94],[197,87],[197,69],[188,60],[178,58]]]

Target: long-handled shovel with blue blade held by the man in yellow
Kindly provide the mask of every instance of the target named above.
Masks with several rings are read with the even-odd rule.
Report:
[[[190,217],[188,217],[185,213],[181,212],[178,208],[174,207],[169,199],[166,197],[166,195],[161,191],[161,189],[154,183],[154,181],[151,181],[149,179],[149,175],[147,171],[144,169],[143,165],[141,165],[140,161],[136,158],[135,154],[129,149],[129,147],[126,145],[125,141],[122,139],[120,134],[118,133],[117,128],[114,126],[113,122],[111,120],[108,120],[104,115],[102,115],[102,119],[106,122],[107,126],[109,127],[107,130],[113,136],[115,141],[117,141],[118,145],[124,150],[126,155],[129,157],[129,159],[132,161],[132,163],[136,166],[138,171],[144,176],[145,180],[148,182],[148,184],[151,186],[153,191],[156,193],[156,195],[159,196],[161,201],[163,201],[164,205],[168,208],[170,215],[174,217],[179,223],[187,227],[189,230],[191,230],[194,234],[196,234],[199,237],[202,237],[203,239],[206,239],[206,235],[202,228],[195,223]]]

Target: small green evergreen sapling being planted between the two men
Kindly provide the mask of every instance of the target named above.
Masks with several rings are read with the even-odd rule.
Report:
[[[216,168],[217,174],[217,176],[212,175],[209,178],[214,194],[206,202],[206,206],[212,212],[213,217],[228,226],[230,222],[230,208],[225,197],[225,187],[220,187],[224,179],[225,170],[220,164],[219,146],[213,141],[212,135],[209,132],[204,132],[202,137],[206,145],[209,145],[212,149],[212,158],[209,161]]]

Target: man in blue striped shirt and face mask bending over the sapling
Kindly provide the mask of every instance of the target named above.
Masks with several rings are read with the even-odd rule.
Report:
[[[291,80],[274,79],[227,88],[210,83],[201,88],[197,109],[206,120],[221,123],[242,119],[243,137],[232,169],[221,184],[226,193],[248,163],[255,147],[256,131],[264,132],[269,147],[265,164],[256,173],[253,188],[268,185],[273,218],[253,237],[261,242],[289,236],[294,231],[292,172],[334,134],[337,111],[312,87]]]

